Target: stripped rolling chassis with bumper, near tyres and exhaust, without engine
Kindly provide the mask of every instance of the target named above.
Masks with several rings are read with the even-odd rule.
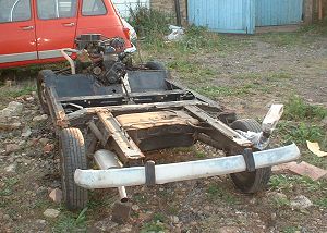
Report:
[[[125,186],[221,174],[231,174],[240,191],[256,193],[267,185],[271,165],[300,156],[294,144],[263,150],[266,146],[258,147],[246,136],[246,132],[263,132],[262,125],[237,120],[217,102],[167,78],[166,71],[130,71],[128,76],[128,93],[113,85],[106,95],[97,95],[96,87],[90,87],[94,94],[83,96],[80,89],[94,82],[92,76],[39,73],[40,102],[59,138],[63,198],[69,209],[87,205],[87,189],[118,188],[120,203],[125,203]],[[83,84],[83,79],[90,83]],[[196,142],[223,150],[227,157],[155,164],[146,156],[146,151]],[[97,170],[89,169],[92,164]],[[123,208],[116,209],[120,212]],[[117,213],[118,219],[126,212]]]

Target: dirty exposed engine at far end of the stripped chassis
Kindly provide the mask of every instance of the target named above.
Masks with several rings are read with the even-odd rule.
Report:
[[[85,34],[76,39],[76,71],[89,73],[102,84],[121,83],[126,74],[123,62],[125,42],[122,38],[104,38],[100,34]]]

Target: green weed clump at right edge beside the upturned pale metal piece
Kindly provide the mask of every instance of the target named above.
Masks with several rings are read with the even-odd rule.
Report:
[[[326,116],[326,108],[308,105],[299,96],[292,96],[284,107],[283,118],[291,121],[323,120]]]

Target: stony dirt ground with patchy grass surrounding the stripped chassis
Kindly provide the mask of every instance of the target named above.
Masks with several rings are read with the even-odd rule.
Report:
[[[327,108],[326,36],[284,33],[225,36],[225,41],[229,49],[220,52],[143,53],[165,62],[173,78],[235,110],[240,118],[261,120],[271,103],[287,103],[294,95]],[[0,87],[1,108],[15,100],[24,109],[14,118],[21,126],[0,131],[0,232],[327,232],[327,179],[314,182],[287,172],[275,172],[267,189],[256,195],[239,193],[229,176],[155,188],[129,187],[133,207],[124,225],[110,220],[118,199],[116,189],[93,191],[86,211],[70,212],[49,199],[49,192],[61,187],[58,145],[50,120],[35,119],[43,114],[32,93],[35,72],[1,72],[7,81]],[[14,78],[16,74],[26,76],[26,72],[31,78]],[[310,123],[320,128],[319,137],[327,145],[326,119]],[[22,136],[28,128],[31,134]],[[275,145],[287,143],[283,133],[277,130]],[[8,148],[11,144],[17,147]],[[316,158],[301,139],[299,146],[303,155],[300,161],[327,169],[327,158]],[[196,144],[153,156],[164,162],[211,158],[221,152]],[[293,204],[300,195],[310,200],[308,207]],[[60,210],[59,216],[45,217],[49,208]]]

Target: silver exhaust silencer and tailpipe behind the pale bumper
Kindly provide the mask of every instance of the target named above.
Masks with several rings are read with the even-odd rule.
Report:
[[[95,152],[94,155],[96,164],[101,169],[101,170],[108,170],[108,169],[120,169],[123,167],[121,161],[117,158],[114,152],[111,152],[110,150],[105,150],[100,149]],[[121,203],[128,203],[128,194],[126,189],[124,186],[118,187],[119,196],[120,196],[120,201]]]

